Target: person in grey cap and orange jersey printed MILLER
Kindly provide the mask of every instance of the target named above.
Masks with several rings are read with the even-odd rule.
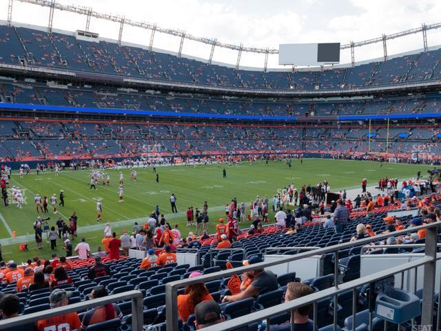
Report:
[[[53,290],[49,296],[50,308],[63,307],[68,305],[69,298],[72,292],[67,292],[60,288]],[[37,330],[59,330],[59,325],[63,325],[63,330],[76,330],[81,327],[81,322],[76,312],[69,312],[61,316],[49,317],[48,319],[41,319],[37,322]]]

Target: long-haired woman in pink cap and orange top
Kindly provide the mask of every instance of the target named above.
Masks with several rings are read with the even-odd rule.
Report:
[[[202,276],[201,272],[192,272],[189,278]],[[196,283],[185,287],[185,294],[178,295],[178,314],[183,322],[194,313],[194,307],[203,301],[213,300],[205,283]]]

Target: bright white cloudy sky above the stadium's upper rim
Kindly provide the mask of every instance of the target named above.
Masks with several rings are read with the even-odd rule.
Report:
[[[280,43],[363,41],[393,34],[422,23],[441,21],[440,0],[57,0],[65,5],[92,7],[97,12],[119,14],[134,21],[156,23],[162,28],[184,30],[197,37],[216,38],[258,48],[278,49]],[[0,0],[0,19],[6,20],[8,0]],[[14,0],[12,21],[47,26],[49,8]],[[53,28],[84,30],[85,16],[54,12]],[[100,37],[118,39],[119,23],[91,19],[90,31]],[[427,32],[429,47],[441,45],[441,29]],[[123,41],[148,46],[150,30],[125,26]],[[154,47],[177,52],[180,38],[156,33]],[[422,34],[393,39],[388,54],[422,48]],[[211,46],[185,40],[183,54],[209,57]],[[237,51],[217,47],[213,61],[236,64]],[[356,61],[382,57],[382,43],[356,48]],[[340,63],[350,62],[342,50]],[[240,66],[263,68],[264,54],[243,52]],[[268,68],[278,66],[278,55],[270,55]],[[286,67],[285,67],[286,68]]]

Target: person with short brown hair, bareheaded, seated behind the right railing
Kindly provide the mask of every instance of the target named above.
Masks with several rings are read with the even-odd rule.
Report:
[[[303,283],[291,282],[287,285],[285,293],[285,302],[292,301],[301,297],[305,297],[314,293],[311,286]],[[294,330],[313,331],[314,322],[309,319],[309,312],[312,310],[312,304],[303,305],[294,310]],[[269,325],[270,331],[289,331],[291,330],[291,322],[286,321],[279,325]]]

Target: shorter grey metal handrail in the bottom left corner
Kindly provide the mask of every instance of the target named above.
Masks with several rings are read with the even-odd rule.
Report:
[[[32,314],[20,315],[11,319],[3,319],[0,321],[0,330],[9,330],[12,327],[17,327],[26,323],[34,323],[41,319],[48,319],[49,317],[56,317],[68,312],[77,312],[87,308],[94,308],[105,305],[106,303],[114,303],[122,300],[132,300],[132,330],[143,330],[143,293],[138,290],[127,291],[119,294],[112,294],[107,297],[92,299],[88,301],[81,301],[79,303],[72,303],[71,305],[64,305],[63,307],[50,308],[41,312],[33,312]]]

